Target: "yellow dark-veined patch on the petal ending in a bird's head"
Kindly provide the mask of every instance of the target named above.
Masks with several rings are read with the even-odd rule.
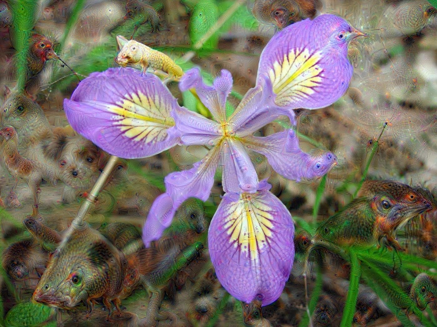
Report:
[[[322,81],[322,67],[317,65],[321,52],[310,54],[308,49],[292,49],[282,60],[275,61],[269,72],[276,102],[289,102],[293,97],[306,98]]]

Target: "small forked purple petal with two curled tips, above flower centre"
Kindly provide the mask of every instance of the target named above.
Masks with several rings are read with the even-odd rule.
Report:
[[[218,122],[226,118],[226,98],[232,89],[232,75],[225,69],[220,71],[214,85],[205,85],[199,68],[192,68],[180,78],[179,89],[184,92],[194,88],[201,102]]]

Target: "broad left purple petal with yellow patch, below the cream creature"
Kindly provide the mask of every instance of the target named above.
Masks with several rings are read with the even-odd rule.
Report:
[[[122,158],[149,157],[177,144],[176,108],[159,78],[132,68],[93,73],[64,100],[73,129]]]

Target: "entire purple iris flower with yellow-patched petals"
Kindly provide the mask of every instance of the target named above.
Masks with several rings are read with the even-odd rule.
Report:
[[[230,115],[225,108],[231,73],[222,70],[213,85],[205,85],[198,68],[185,72],[179,88],[194,89],[213,119],[180,107],[159,78],[133,68],[91,74],[65,99],[64,109],[73,129],[118,157],[206,146],[208,153],[191,169],[165,177],[166,191],[153,202],[143,241],[148,246],[160,238],[187,198],[206,201],[221,168],[225,195],[208,231],[211,260],[232,296],[265,306],[277,300],[290,274],[294,225],[270,184],[258,180],[249,154],[264,154],[279,174],[296,181],[322,177],[337,158],[329,151],[303,152],[293,129],[253,134],[280,115],[294,123],[294,108],[322,108],[339,99],[352,75],[347,44],[360,35],[334,15],[284,28],[261,55],[257,84]]]

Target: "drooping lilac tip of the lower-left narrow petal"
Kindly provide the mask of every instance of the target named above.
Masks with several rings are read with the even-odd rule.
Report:
[[[170,226],[176,209],[177,207],[174,208],[173,201],[167,193],[161,194],[153,201],[142,228],[142,241],[146,247],[163,235],[164,230]]]

